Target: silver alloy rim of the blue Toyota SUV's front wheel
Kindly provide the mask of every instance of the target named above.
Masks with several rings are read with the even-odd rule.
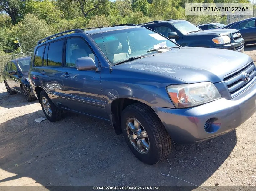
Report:
[[[141,123],[134,118],[129,118],[126,122],[126,131],[134,148],[141,154],[149,152],[148,134]]]

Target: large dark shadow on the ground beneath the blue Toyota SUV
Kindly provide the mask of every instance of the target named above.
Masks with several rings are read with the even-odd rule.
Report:
[[[42,111],[0,124],[0,168],[17,174],[0,183],[30,177],[44,186],[190,185],[161,175],[169,173],[167,160],[153,166],[140,162],[104,121],[68,112],[56,123],[37,123],[38,117],[44,117]],[[173,144],[170,175],[201,185],[236,142],[232,131],[197,144]]]

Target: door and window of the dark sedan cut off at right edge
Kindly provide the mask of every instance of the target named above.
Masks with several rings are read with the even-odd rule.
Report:
[[[236,29],[240,31],[245,43],[256,41],[256,26],[255,19],[241,22]]]

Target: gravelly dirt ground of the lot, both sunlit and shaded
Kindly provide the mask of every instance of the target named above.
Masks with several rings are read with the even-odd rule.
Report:
[[[244,53],[256,61],[255,45]],[[170,170],[167,160],[149,166],[136,159],[123,136],[105,121],[66,112],[56,123],[35,122],[45,117],[40,104],[20,94],[8,95],[3,83],[0,116],[0,186],[190,185],[183,180],[212,186],[210,190],[256,186],[256,114],[217,138],[174,143],[168,157],[170,175],[183,180],[161,174]]]

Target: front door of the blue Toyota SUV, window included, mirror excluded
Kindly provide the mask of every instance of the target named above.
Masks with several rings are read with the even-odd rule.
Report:
[[[89,56],[99,65],[98,59],[89,45],[81,37],[66,39],[65,62],[62,80],[68,108],[91,116],[107,119],[101,91],[100,72],[78,71],[75,61]]]

